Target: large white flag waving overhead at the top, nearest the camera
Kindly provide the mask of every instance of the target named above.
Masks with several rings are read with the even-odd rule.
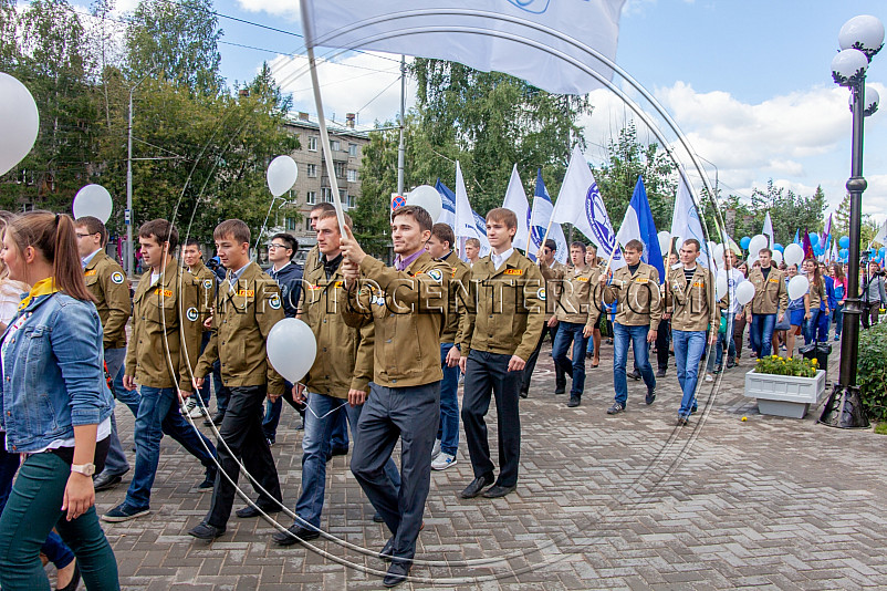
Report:
[[[303,0],[307,46],[364,48],[504,72],[559,94],[585,94],[613,72],[625,0]],[[563,56],[557,56],[563,55]]]

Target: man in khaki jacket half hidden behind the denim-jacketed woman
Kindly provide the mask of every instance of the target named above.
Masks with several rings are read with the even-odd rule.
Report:
[[[105,365],[113,380],[123,367],[126,357],[126,322],[133,311],[129,286],[123,268],[105,253],[107,230],[102,220],[84,216],[74,222],[74,231],[77,236],[77,251],[83,262],[86,289],[95,298],[95,309],[102,321]],[[133,415],[138,414],[138,394],[116,392],[116,390],[114,396],[126,404],[133,411]],[[117,435],[117,419],[112,414],[111,445],[107,450],[105,469],[93,479],[96,492],[116,486],[127,471],[129,471],[129,463],[126,460],[126,454]]]

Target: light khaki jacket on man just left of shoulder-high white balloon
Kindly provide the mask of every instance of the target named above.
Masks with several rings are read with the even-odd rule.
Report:
[[[687,284],[683,265],[668,270],[666,305],[671,310],[671,330],[698,332],[709,325],[720,326],[720,304],[714,301],[714,279],[711,271],[696,266],[696,272]]]

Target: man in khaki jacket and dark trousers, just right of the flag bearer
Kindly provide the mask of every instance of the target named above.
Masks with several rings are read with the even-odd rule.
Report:
[[[539,267],[511,241],[518,217],[510,209],[487,214],[487,238],[492,252],[471,268],[466,314],[459,326],[459,365],[466,374],[462,424],[474,479],[462,490],[470,499],[493,484],[494,465],[483,417],[495,396],[499,425],[499,479],[487,498],[504,497],[518,486],[521,459],[521,419],[518,396],[526,360],[539,341],[544,322],[545,281]]]

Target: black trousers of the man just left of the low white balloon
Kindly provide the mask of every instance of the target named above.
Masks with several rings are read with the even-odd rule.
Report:
[[[264,385],[229,388],[228,408],[219,427],[220,440],[217,445],[222,470],[234,484],[240,476],[240,466],[237,463],[240,459],[250,476],[268,491],[270,497],[264,494],[259,496],[257,502],[261,507],[276,506],[274,500],[280,501],[282,498],[278,469],[262,432],[262,404],[267,390]],[[206,518],[207,523],[225,527],[231,517],[236,492],[234,486],[220,471],[216,476],[212,507]]]

